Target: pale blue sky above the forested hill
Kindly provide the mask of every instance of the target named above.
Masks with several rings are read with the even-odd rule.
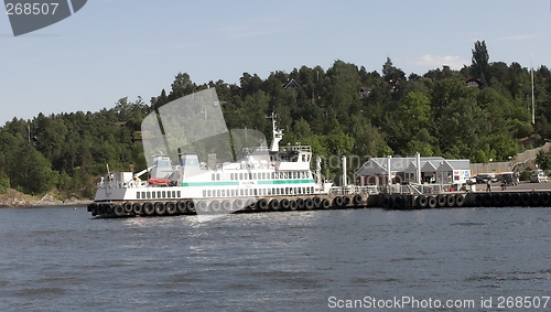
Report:
[[[1,12],[0,125],[149,104],[177,73],[239,84],[336,60],[380,73],[387,57],[407,75],[460,69],[483,40],[490,62],[551,67],[551,0],[89,0],[20,36]]]

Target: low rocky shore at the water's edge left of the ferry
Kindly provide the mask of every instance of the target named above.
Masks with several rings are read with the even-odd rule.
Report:
[[[34,207],[34,206],[61,206],[61,205],[87,205],[90,200],[78,200],[71,197],[67,200],[58,200],[51,194],[45,194],[41,198],[26,195],[15,190],[10,190],[7,194],[0,194],[0,208],[7,207]]]

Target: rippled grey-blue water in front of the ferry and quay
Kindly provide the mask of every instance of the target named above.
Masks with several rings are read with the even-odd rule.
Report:
[[[327,311],[395,297],[475,305],[376,311],[508,311],[499,297],[538,297],[549,311],[550,218],[549,208],[371,208],[198,223],[6,208],[0,311]]]

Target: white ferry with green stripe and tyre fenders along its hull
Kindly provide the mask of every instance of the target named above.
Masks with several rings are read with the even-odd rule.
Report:
[[[272,115],[271,147],[244,148],[235,162],[210,168],[197,153],[181,153],[177,164],[166,154],[156,154],[150,168],[108,173],[98,185],[93,216],[173,215],[183,213],[233,213],[244,209],[302,209],[332,203],[316,195],[328,194],[320,161],[316,174],[310,164],[309,146],[280,147],[283,131]],[[140,176],[148,173],[148,179]],[[343,198],[348,200],[348,198]]]

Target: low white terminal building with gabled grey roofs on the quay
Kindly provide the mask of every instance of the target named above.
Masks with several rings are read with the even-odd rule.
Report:
[[[389,164],[392,184],[461,185],[466,183],[471,176],[471,161],[468,159],[445,160],[441,157],[371,158],[355,172],[356,184],[360,186],[387,184]]]

